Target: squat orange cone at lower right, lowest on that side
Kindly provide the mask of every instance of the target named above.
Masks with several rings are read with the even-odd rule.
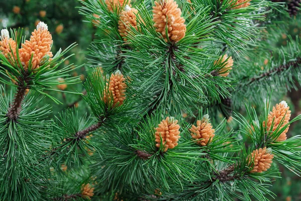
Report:
[[[263,172],[266,171],[268,168],[270,168],[272,159],[274,155],[271,154],[270,149],[266,149],[264,147],[263,149],[256,149],[251,153],[251,160],[253,160],[254,164],[249,162],[249,165],[252,165],[253,169],[250,171],[251,173],[255,172]]]

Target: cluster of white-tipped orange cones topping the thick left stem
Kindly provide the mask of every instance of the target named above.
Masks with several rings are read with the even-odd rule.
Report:
[[[31,59],[32,69],[36,69],[44,62],[45,57],[51,58],[53,56],[50,51],[52,42],[52,36],[48,31],[47,25],[40,22],[35,31],[32,32],[30,40],[26,40],[19,49],[20,61],[25,70],[28,69]],[[17,60],[16,46],[16,41],[9,37],[8,30],[2,30],[0,52],[8,58],[12,64],[15,59]]]

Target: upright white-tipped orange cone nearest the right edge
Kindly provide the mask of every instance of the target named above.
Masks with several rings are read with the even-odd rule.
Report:
[[[288,124],[290,112],[291,111],[289,110],[289,107],[287,106],[287,103],[284,100],[282,100],[279,104],[276,104],[276,106],[273,107],[272,112],[270,112],[267,116],[267,131],[275,131],[283,118],[284,119],[282,121],[280,129],[283,128],[286,124]],[[271,128],[272,123],[273,128]],[[263,126],[265,126],[265,122],[263,122]],[[279,137],[276,139],[276,142],[286,140],[286,133],[288,131],[288,127],[279,135]]]

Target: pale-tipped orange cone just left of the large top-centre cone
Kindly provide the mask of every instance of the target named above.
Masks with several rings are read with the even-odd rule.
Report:
[[[120,13],[119,21],[118,21],[118,31],[120,36],[123,38],[127,36],[130,31],[130,27],[133,27],[137,30],[137,21],[136,14],[138,11],[134,8],[130,8],[129,6],[125,6],[124,11]],[[126,42],[127,39],[123,38],[123,41]]]

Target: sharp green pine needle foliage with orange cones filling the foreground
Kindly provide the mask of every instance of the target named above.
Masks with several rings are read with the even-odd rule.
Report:
[[[96,39],[85,90],[69,93],[84,114],[41,107],[79,82],[81,66],[60,67],[74,44],[49,58],[31,41],[27,65],[22,31],[15,49],[1,33],[0,200],[270,200],[278,166],[301,174],[301,137],[286,136],[301,116],[270,112],[301,66],[298,36],[278,48],[275,30],[301,16],[268,0],[157,3],[81,1]]]

